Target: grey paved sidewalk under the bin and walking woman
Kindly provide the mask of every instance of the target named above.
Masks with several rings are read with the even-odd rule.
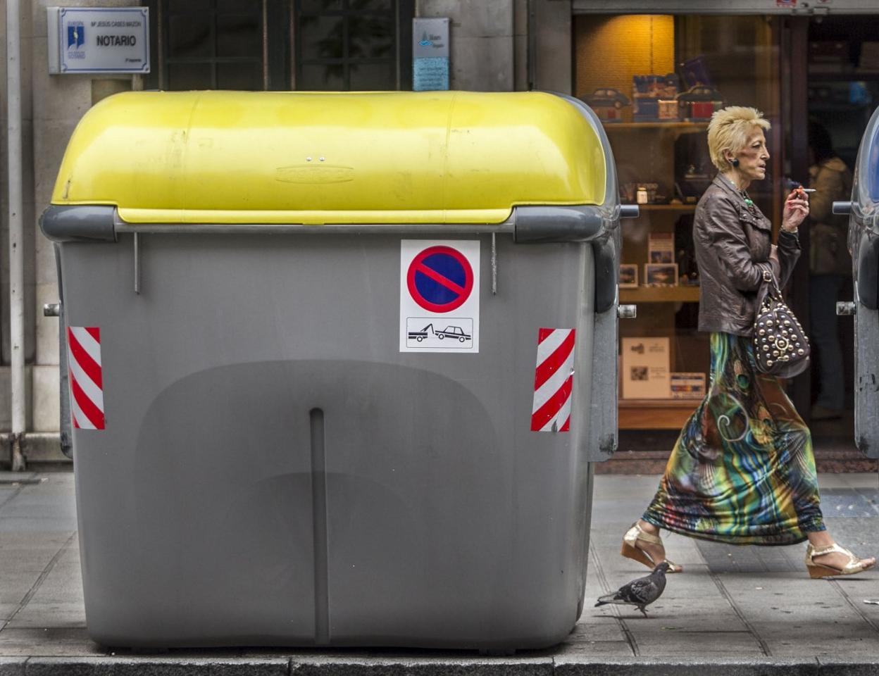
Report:
[[[0,676],[33,674],[774,674],[879,671],[879,571],[810,580],[804,545],[733,548],[677,535],[685,566],[643,619],[592,607],[646,569],[619,556],[657,476],[597,476],[583,617],[547,651],[491,658],[468,651],[102,650],[85,634],[73,475],[0,473]],[[879,477],[822,475],[832,533],[879,552]]]

